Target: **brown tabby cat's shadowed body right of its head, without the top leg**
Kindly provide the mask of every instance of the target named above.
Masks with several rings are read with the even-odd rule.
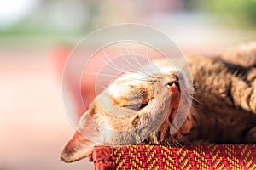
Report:
[[[191,56],[188,62],[194,72],[195,141],[256,144],[256,62],[241,67],[221,56]]]

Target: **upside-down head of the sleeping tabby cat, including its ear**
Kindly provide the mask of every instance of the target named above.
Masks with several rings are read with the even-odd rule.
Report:
[[[96,97],[62,151],[61,160],[89,156],[96,144],[183,142],[183,134],[191,128],[187,78],[166,61],[155,65],[156,70],[148,66],[117,78]]]

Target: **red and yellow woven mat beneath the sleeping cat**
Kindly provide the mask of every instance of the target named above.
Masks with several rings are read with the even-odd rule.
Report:
[[[103,169],[256,169],[256,145],[96,146],[91,160]]]

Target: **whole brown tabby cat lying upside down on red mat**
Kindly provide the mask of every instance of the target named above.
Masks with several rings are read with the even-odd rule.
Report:
[[[186,59],[193,87],[165,60],[155,62],[158,72],[115,80],[81,117],[61,160],[90,156],[96,144],[256,144],[256,42]]]

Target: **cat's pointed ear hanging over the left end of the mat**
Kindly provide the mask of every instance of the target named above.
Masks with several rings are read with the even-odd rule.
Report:
[[[69,140],[61,153],[61,160],[65,162],[79,161],[80,159],[90,156],[94,143],[86,139],[82,133],[76,131],[73,138]]]

